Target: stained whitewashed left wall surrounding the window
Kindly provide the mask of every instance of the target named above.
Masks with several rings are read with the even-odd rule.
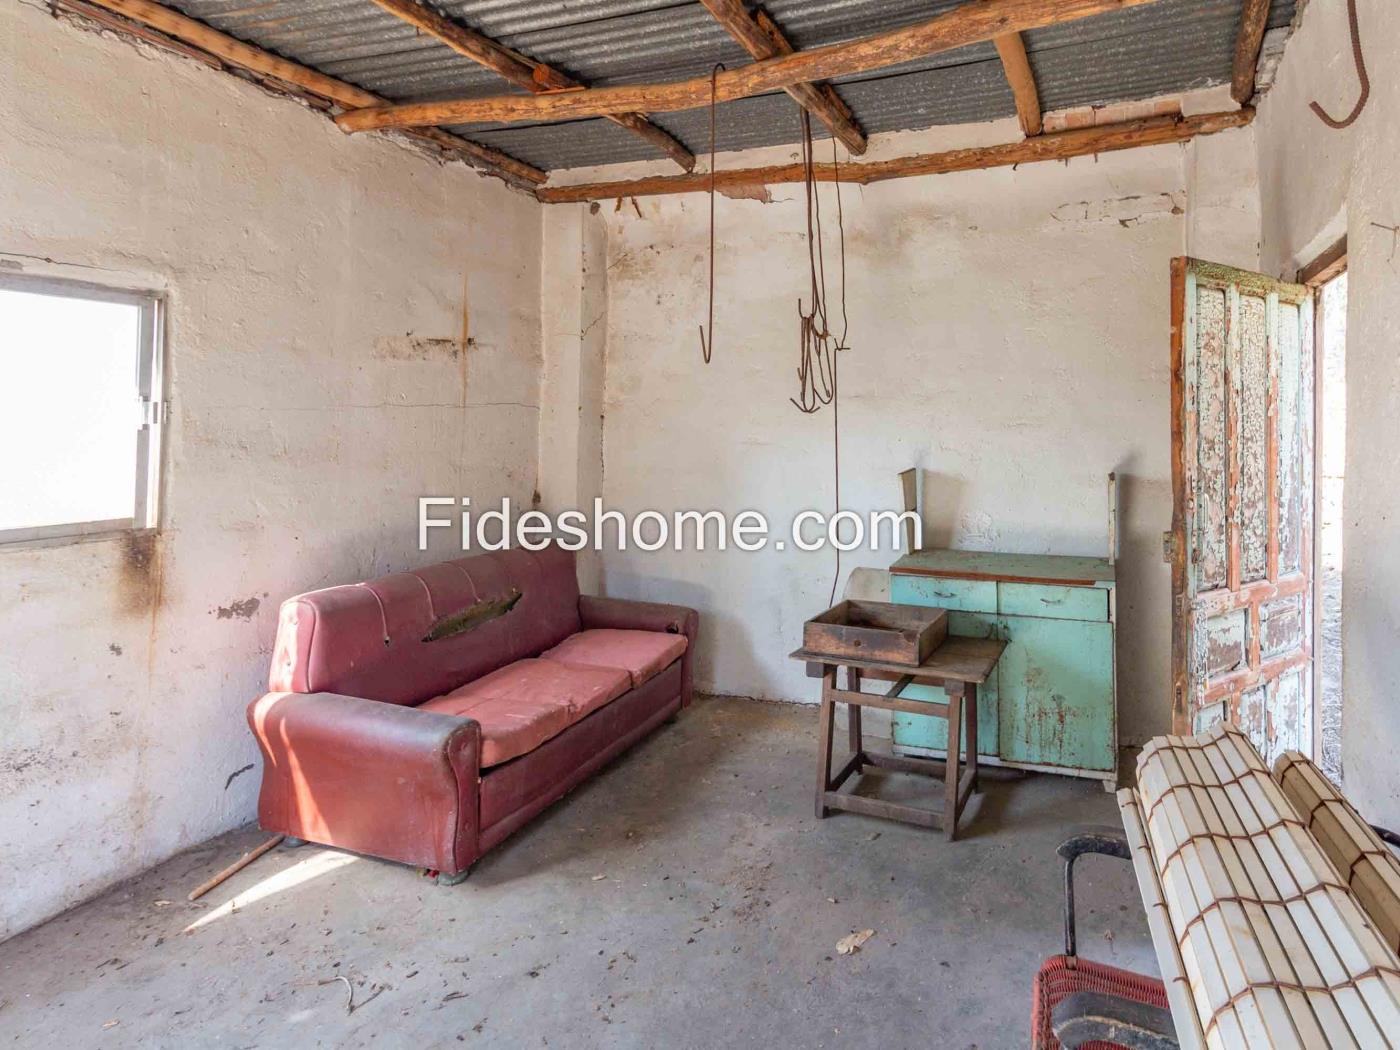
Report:
[[[252,818],[281,598],[433,560],[420,494],[528,505],[540,209],[28,4],[0,112],[0,266],[164,288],[171,396],[153,543],[0,550],[4,938]]]

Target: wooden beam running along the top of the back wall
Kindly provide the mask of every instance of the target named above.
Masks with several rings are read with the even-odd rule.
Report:
[[[1060,161],[1096,153],[1133,150],[1140,146],[1180,143],[1198,134],[1214,134],[1231,127],[1243,127],[1254,119],[1249,106],[1226,113],[1200,116],[1156,116],[1117,125],[1081,127],[1072,132],[1053,132],[1004,146],[979,146],[948,153],[925,153],[897,157],[871,164],[815,165],[815,176],[822,182],[871,183],[903,179],[913,175],[944,175],[953,171],[1004,168],[1035,161]],[[774,164],[766,168],[731,168],[715,174],[715,189],[746,190],[781,182],[802,182],[801,164]],[[659,196],[664,193],[700,193],[710,188],[710,174],[655,175],[624,182],[591,182],[575,186],[540,186],[535,196],[546,204],[567,204],[582,200],[610,200],[613,197]]]

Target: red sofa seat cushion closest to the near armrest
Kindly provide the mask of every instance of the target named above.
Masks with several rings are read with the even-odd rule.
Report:
[[[420,704],[419,710],[480,722],[482,769],[486,769],[533,750],[626,693],[630,685],[627,672],[616,668],[518,659]]]

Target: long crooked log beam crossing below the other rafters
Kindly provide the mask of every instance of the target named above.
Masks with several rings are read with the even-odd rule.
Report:
[[[896,66],[902,62],[991,41],[1009,32],[1121,11],[1154,0],[973,0],[902,29],[846,43],[799,50],[720,73],[714,97],[720,102],[778,91],[794,84]],[[711,78],[668,84],[636,84],[542,95],[498,95],[414,102],[342,113],[336,123],[350,132],[375,127],[421,127],[442,123],[570,120],[627,112],[673,112],[708,105]]]

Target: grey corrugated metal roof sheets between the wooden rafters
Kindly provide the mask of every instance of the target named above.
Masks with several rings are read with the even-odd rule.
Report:
[[[377,7],[372,0],[172,0],[185,14],[395,101],[514,92],[497,74]],[[962,0],[769,0],[797,48],[868,36],[930,18]],[[1046,111],[1149,98],[1229,80],[1242,0],[1158,0],[1026,34]],[[1274,0],[1270,28],[1295,0]],[[595,84],[637,84],[731,69],[748,53],[699,3],[662,0],[455,0],[440,10],[503,45]],[[990,120],[1015,113],[990,43],[837,81],[868,133]],[[694,153],[710,146],[706,111],[652,118]],[[721,150],[797,141],[797,109],[778,92],[727,102]],[[540,168],[654,160],[641,139],[601,120],[452,129]],[[825,130],[825,129],[823,129]]]

